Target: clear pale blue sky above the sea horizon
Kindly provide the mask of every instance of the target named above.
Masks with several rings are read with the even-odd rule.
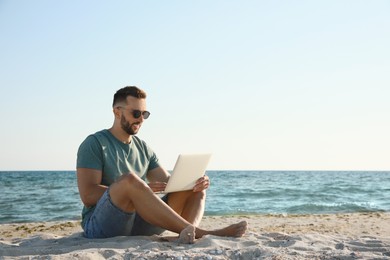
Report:
[[[0,170],[75,170],[135,85],[172,169],[390,170],[390,2],[0,0]]]

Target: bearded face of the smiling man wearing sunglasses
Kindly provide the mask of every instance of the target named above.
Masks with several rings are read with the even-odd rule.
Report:
[[[134,117],[134,111],[146,111],[145,99],[138,99],[135,97],[127,97],[127,105],[120,106],[121,110],[121,127],[129,135],[138,133],[143,121],[143,115],[138,118]]]

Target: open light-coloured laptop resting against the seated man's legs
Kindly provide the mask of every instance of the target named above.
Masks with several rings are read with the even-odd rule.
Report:
[[[195,182],[205,174],[210,158],[208,153],[180,154],[162,193],[192,190]]]

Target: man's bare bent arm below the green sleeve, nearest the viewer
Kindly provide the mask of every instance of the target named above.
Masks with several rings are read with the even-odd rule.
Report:
[[[101,185],[102,171],[77,168],[77,184],[81,201],[86,207],[91,207],[97,204],[103,193],[107,190],[107,186]]]

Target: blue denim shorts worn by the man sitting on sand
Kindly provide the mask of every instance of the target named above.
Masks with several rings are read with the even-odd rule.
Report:
[[[167,203],[168,195],[161,198]],[[146,222],[136,212],[127,213],[115,206],[107,190],[91,214],[85,216],[84,236],[108,238],[115,236],[160,235],[165,229]]]

